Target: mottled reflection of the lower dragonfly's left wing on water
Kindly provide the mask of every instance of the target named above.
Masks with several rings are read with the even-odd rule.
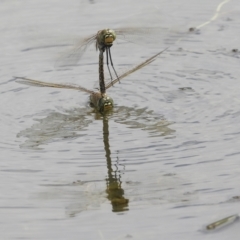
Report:
[[[89,108],[42,112],[38,114],[40,118],[34,119],[37,123],[17,134],[26,138],[20,148],[40,150],[42,145],[86,136],[87,126],[94,121],[93,114]]]

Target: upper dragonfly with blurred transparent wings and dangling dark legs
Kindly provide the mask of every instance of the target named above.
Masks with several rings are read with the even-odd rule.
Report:
[[[114,71],[114,74],[118,78],[117,72],[113,65],[111,47],[114,41],[118,38],[123,41],[131,43],[141,43],[151,41],[154,43],[165,42],[168,45],[174,44],[177,39],[182,36],[182,33],[177,33],[168,28],[155,28],[155,27],[142,27],[142,28],[119,28],[119,29],[103,29],[98,31],[83,40],[80,40],[76,46],[69,52],[63,54],[56,63],[56,66],[75,65],[83,56],[85,51],[91,46],[95,45],[96,50],[99,50],[99,65],[100,58],[103,58],[103,54],[106,53],[106,64],[111,80],[113,80],[109,62]]]

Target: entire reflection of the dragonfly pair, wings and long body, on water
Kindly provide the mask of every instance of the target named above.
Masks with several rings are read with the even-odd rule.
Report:
[[[120,118],[121,116],[121,118]],[[111,202],[113,212],[128,211],[129,200],[124,197],[124,189],[122,188],[121,173],[124,170],[119,169],[119,161],[115,166],[112,165],[111,150],[109,144],[109,119],[114,120],[117,123],[127,125],[130,128],[140,128],[148,130],[149,133],[159,136],[170,135],[174,132],[168,128],[169,122],[164,120],[162,116],[154,114],[154,112],[147,110],[146,108],[134,109],[129,107],[116,107],[114,111],[108,112],[104,115],[94,112],[87,108],[79,108],[69,110],[64,113],[50,112],[41,119],[35,119],[38,123],[32,125],[32,127],[21,131],[17,136],[25,137],[27,140],[20,145],[21,148],[27,149],[40,149],[40,145],[49,144],[56,141],[74,140],[76,138],[87,135],[86,128],[94,120],[100,120],[103,123],[102,134],[103,143],[107,165],[107,178],[105,197]],[[151,121],[149,121],[151,119]],[[97,133],[99,135],[99,132]],[[77,181],[70,185],[85,185],[87,182]],[[88,184],[87,184],[88,185]],[[52,186],[52,185],[50,185]],[[66,187],[66,185],[59,185],[59,187]],[[67,214],[70,217],[74,217],[84,209],[88,208],[91,202],[97,203],[99,198],[102,198],[101,194],[95,194],[94,191],[89,195],[82,195],[85,191],[80,191],[79,194],[74,194],[74,199],[79,199],[79,202],[70,204],[67,207]],[[86,201],[85,201],[85,200]],[[101,200],[99,200],[101,201]]]

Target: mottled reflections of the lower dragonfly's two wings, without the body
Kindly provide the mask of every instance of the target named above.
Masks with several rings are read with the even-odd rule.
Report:
[[[101,120],[102,115],[89,108],[75,108],[61,112],[43,112],[35,118],[37,123],[17,134],[18,138],[26,138],[20,148],[40,150],[40,146],[58,141],[71,141],[87,136],[87,127],[94,120]],[[169,128],[170,123],[162,115],[146,108],[114,107],[108,117],[116,123],[128,128],[142,129],[149,132],[150,137],[172,135],[175,130]]]

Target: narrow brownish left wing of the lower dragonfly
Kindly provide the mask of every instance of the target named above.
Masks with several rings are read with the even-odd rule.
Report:
[[[36,87],[52,87],[52,88],[65,88],[65,89],[74,89],[82,92],[86,92],[89,94],[94,93],[94,91],[88,90],[86,88],[83,88],[78,85],[72,85],[72,84],[59,84],[59,83],[48,83],[48,82],[42,82],[30,78],[25,77],[15,77],[18,83],[30,85],[30,86],[36,86]]]

